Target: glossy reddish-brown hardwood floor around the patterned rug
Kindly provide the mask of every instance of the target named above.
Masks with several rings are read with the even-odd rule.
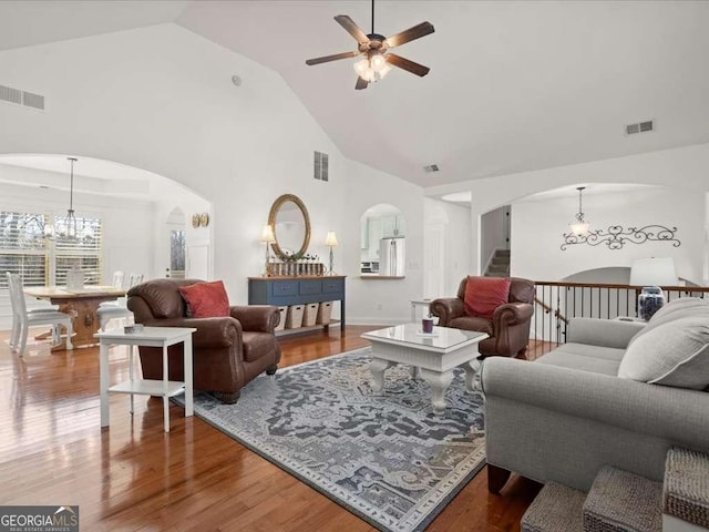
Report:
[[[378,327],[282,337],[280,367],[369,345]],[[78,504],[93,531],[371,531],[364,521],[248,451],[197,417],[162,401],[111,396],[100,428],[99,349],[19,358],[0,332],[0,504]],[[111,351],[111,383],[127,378],[127,350]],[[518,531],[538,492],[521,478],[492,495],[483,469],[431,523],[431,531]]]

